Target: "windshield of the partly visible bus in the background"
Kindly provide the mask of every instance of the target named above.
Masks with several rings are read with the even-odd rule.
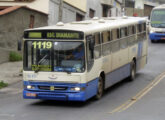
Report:
[[[151,26],[165,28],[165,9],[154,10],[151,16]]]

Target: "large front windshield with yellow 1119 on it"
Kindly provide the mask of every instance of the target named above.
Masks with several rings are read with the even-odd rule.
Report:
[[[24,70],[83,72],[83,42],[25,42]]]

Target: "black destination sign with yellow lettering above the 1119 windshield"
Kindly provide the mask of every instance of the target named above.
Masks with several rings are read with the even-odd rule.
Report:
[[[83,32],[77,31],[25,31],[24,38],[29,39],[83,39]]]

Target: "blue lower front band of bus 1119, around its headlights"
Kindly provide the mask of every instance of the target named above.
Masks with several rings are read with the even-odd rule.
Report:
[[[67,84],[67,83],[49,83],[49,82],[29,82],[24,81],[24,86],[33,85],[35,89],[23,90],[23,98],[25,99],[45,99],[45,100],[61,100],[61,101],[86,101],[89,98],[93,97],[97,93],[98,78],[92,80],[88,83],[83,84]],[[55,86],[55,87],[67,87],[66,90],[40,90],[37,86]],[[85,88],[84,91],[75,92],[71,91],[72,87],[81,87]],[[35,94],[36,96],[28,96],[28,94]]]

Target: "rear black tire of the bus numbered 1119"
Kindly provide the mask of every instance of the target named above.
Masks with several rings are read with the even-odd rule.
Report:
[[[132,61],[130,67],[130,76],[128,80],[133,81],[135,79],[135,75],[136,75],[136,63]]]

